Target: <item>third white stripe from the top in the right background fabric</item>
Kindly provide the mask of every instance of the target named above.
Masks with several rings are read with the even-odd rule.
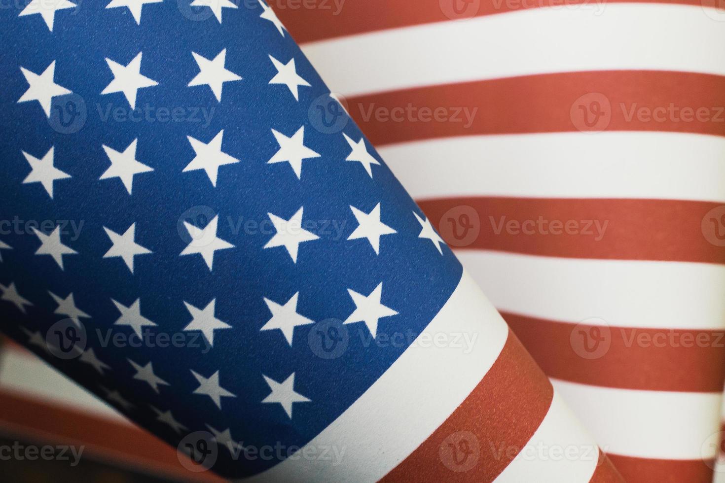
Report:
[[[493,251],[457,256],[502,311],[573,323],[598,317],[615,327],[725,327],[723,265]]]

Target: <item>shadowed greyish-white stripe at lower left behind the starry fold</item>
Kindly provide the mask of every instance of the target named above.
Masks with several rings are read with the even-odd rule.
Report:
[[[0,391],[93,413],[115,422],[133,424],[104,401],[80,387],[41,358],[12,346],[0,350]]]

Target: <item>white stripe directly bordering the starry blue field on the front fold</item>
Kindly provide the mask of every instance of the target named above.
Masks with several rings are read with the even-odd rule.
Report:
[[[476,337],[476,343],[467,351],[422,342],[421,337],[441,333],[468,334]],[[479,384],[499,356],[508,327],[464,272],[424,334],[307,444],[344,452],[338,465],[319,458],[287,459],[254,479],[376,482],[426,440]]]

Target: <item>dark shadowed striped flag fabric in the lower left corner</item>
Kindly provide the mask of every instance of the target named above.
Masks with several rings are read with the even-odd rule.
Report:
[[[176,448],[12,342],[0,344],[0,407],[0,435],[5,441],[18,440],[25,448],[38,444],[68,448],[58,458],[54,472],[83,471],[84,481],[99,481],[88,475],[86,464],[96,461],[171,481],[225,481],[211,471],[189,471],[191,461]],[[24,455],[25,448],[18,453],[5,450],[4,461],[9,454]],[[38,474],[36,462],[23,458],[17,467]],[[26,481],[7,473],[5,479]],[[54,474],[54,479],[62,479],[62,475]]]

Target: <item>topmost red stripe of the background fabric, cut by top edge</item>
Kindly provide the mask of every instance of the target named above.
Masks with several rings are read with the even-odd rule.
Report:
[[[269,0],[268,3],[299,43],[538,7],[564,8],[565,3],[595,5],[592,0],[468,0],[470,6],[464,0],[456,1],[460,13],[452,8],[453,0]],[[701,5],[700,0],[614,1]],[[342,3],[341,8],[336,3]]]

